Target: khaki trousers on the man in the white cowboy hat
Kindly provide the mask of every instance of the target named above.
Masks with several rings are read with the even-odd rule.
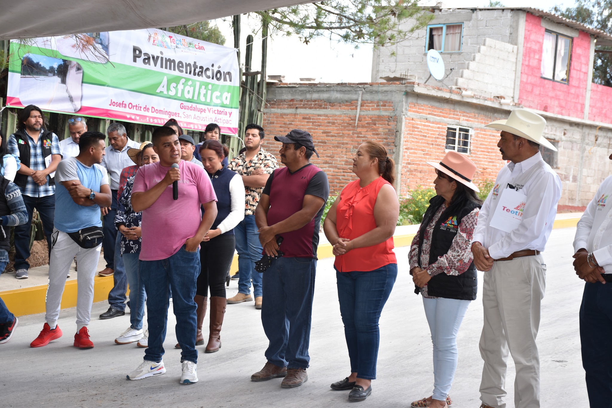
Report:
[[[509,352],[517,370],[515,407],[540,406],[540,357],[535,337],[545,286],[546,265],[542,255],[497,261],[490,271],[484,272],[480,400],[488,406],[506,408],[504,387]]]

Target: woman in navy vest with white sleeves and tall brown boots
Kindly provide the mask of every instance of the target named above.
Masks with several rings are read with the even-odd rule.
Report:
[[[198,304],[198,341],[203,341],[202,323],[206,313],[206,296],[211,291],[211,324],[206,353],[221,348],[221,325],[225,313],[225,275],[234,258],[236,239],[234,227],[244,219],[244,184],[242,177],[224,166],[223,158],[228,148],[216,140],[206,140],[200,147],[204,169],[211,176],[212,187],[217,195],[217,218],[202,242],[196,303]]]

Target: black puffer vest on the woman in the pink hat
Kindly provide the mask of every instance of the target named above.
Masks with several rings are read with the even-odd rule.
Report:
[[[420,265],[420,254],[421,245],[425,236],[425,229],[435,215],[436,211],[444,203],[442,196],[435,196],[430,200],[430,205],[425,211],[423,216],[423,222],[419,229],[419,266]],[[476,207],[480,207],[479,204],[472,201],[466,201],[463,206],[457,210],[449,211],[444,210],[436,226],[433,229],[431,236],[431,248],[429,254],[429,264],[434,264],[438,261],[438,258],[446,254],[450,245],[457,236],[459,230],[459,224],[463,217],[472,212]],[[476,300],[478,281],[476,274],[476,267],[474,262],[469,265],[468,270],[461,273],[460,275],[447,275],[446,273],[438,273],[431,278],[427,283],[427,294],[435,297],[444,297],[446,299],[459,299],[459,300]],[[420,288],[416,286],[414,290],[416,294],[420,293]]]

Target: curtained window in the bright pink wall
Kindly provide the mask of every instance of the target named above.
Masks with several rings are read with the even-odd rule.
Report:
[[[556,32],[545,31],[540,76],[567,84],[571,53],[572,39]]]

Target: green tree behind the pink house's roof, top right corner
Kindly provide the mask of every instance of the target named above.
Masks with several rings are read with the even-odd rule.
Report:
[[[569,20],[612,34],[612,0],[577,0],[575,7],[562,9],[553,7],[550,11]],[[610,46],[598,46],[597,50],[612,51]],[[595,53],[593,82],[612,86],[612,54]]]

